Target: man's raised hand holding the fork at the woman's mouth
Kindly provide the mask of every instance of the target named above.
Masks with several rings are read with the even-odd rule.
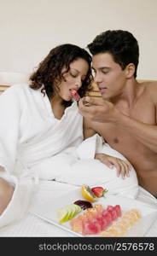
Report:
[[[80,99],[78,112],[91,121],[101,123],[116,122],[119,117],[119,111],[113,107],[113,103],[105,100],[95,100],[89,96]]]

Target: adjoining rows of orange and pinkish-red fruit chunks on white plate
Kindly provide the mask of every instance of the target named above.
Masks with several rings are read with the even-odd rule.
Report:
[[[96,235],[102,230],[106,230],[108,226],[113,224],[121,216],[121,208],[119,205],[108,206],[103,208],[97,204],[95,207],[88,208],[83,214],[70,221],[73,231],[80,232],[82,235]]]

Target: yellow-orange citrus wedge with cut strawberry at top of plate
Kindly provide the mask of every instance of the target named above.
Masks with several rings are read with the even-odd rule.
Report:
[[[97,201],[100,197],[104,196],[108,192],[107,189],[102,187],[90,188],[88,185],[83,185],[81,187],[81,193],[83,197],[91,202]]]

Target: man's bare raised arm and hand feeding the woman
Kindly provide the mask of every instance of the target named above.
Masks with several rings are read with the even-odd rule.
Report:
[[[90,106],[85,107],[81,99],[79,101],[78,111],[84,117],[92,121],[100,123],[112,123],[136,137],[137,140],[148,147],[150,150],[157,153],[157,125],[148,125],[136,119],[126,116],[119,112],[113,104],[108,101],[100,101],[91,99],[89,96],[85,98]],[[154,106],[157,112],[157,106]]]

